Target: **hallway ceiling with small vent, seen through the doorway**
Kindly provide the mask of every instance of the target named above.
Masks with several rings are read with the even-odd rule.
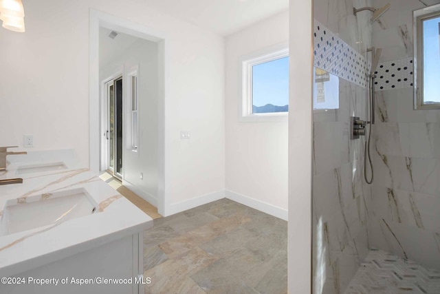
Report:
[[[112,61],[116,56],[125,52],[135,41],[139,40],[135,36],[129,34],[122,34],[118,32],[115,39],[111,39],[109,34],[111,30],[107,28],[99,28],[99,64],[106,65]]]

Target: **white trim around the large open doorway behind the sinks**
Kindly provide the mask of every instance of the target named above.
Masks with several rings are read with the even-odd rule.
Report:
[[[163,32],[147,28],[139,23],[115,17],[105,12],[90,9],[89,14],[89,169],[94,174],[100,173],[101,152],[101,128],[100,123],[103,118],[100,114],[100,95],[99,81],[99,28],[116,30],[124,34],[131,34],[140,39],[146,39],[157,43],[159,49],[159,96],[158,96],[158,145],[157,145],[157,211],[162,216],[170,214],[170,201],[168,195],[168,179],[170,178],[168,165],[168,144],[170,142],[170,132],[167,132],[166,111],[168,107],[168,72],[169,72],[169,49],[168,37]],[[124,183],[124,182],[122,182]]]

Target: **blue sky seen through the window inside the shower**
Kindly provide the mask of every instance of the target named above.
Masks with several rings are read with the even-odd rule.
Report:
[[[423,21],[423,100],[440,103],[440,17]]]

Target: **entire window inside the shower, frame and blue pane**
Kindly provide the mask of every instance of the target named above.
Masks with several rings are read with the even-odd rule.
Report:
[[[440,109],[440,5],[415,10],[415,108]]]

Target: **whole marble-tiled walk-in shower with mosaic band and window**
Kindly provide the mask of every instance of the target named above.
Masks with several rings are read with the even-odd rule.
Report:
[[[440,211],[440,123],[417,109],[424,89],[416,77],[440,68],[440,0],[312,2],[314,65],[340,83],[331,93],[338,111],[313,112],[312,293],[440,294],[440,214],[432,213]],[[329,92],[321,81],[314,78],[316,105]]]

